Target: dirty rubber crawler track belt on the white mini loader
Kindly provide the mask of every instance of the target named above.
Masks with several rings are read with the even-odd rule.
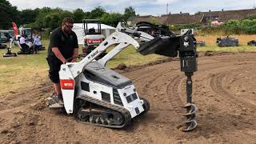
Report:
[[[80,95],[77,98],[85,100],[87,102],[91,102],[91,103],[93,103],[95,105],[98,105],[98,106],[106,107],[110,110],[118,111],[119,113],[122,114],[122,117],[125,119],[124,123],[121,126],[111,126],[111,125],[103,125],[103,124],[91,123],[91,122],[82,122],[82,121],[77,119],[77,121],[80,122],[80,123],[94,125],[94,126],[110,127],[110,128],[122,128],[122,127],[126,127],[130,124],[130,120],[131,120],[130,112],[122,106],[116,106],[116,105],[111,104],[110,102],[101,101],[101,100],[98,100],[96,98],[91,98],[91,97],[86,96],[86,95]],[[77,111],[74,111],[74,114],[77,114]]]

